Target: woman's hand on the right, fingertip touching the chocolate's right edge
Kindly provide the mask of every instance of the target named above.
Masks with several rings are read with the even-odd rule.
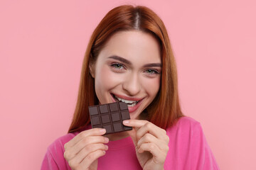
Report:
[[[124,120],[124,125],[134,127],[127,131],[132,137],[137,159],[143,169],[164,169],[169,150],[166,131],[146,120]]]

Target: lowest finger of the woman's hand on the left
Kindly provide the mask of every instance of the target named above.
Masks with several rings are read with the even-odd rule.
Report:
[[[91,152],[90,154],[87,155],[87,157],[85,157],[85,159],[82,160],[80,166],[84,169],[87,169],[90,166],[90,164],[92,164],[92,162],[94,162],[96,159],[102,157],[105,154],[105,150],[101,149],[98,149],[95,152]]]

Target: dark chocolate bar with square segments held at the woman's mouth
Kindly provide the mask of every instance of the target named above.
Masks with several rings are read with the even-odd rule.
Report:
[[[122,124],[123,120],[130,119],[127,103],[115,102],[89,106],[89,113],[92,128],[105,128],[105,135],[132,130],[132,127]]]

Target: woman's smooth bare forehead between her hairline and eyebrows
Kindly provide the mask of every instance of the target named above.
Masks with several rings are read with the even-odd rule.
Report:
[[[161,51],[158,40],[149,33],[140,30],[119,31],[107,40],[100,56],[118,55],[127,60],[147,60],[161,62]]]

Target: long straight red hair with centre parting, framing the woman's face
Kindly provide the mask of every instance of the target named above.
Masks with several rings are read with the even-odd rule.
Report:
[[[178,101],[176,62],[163,21],[145,6],[123,5],[109,11],[92,33],[82,62],[78,101],[68,132],[80,130],[90,123],[88,106],[98,104],[98,99],[94,79],[89,72],[89,62],[95,62],[105,42],[122,30],[141,30],[154,35],[161,47],[161,86],[154,101],[143,112],[143,117],[166,129],[183,116]]]

